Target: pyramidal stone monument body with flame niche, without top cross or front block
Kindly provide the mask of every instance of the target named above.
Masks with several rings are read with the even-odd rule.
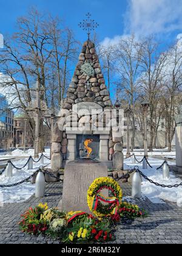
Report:
[[[55,123],[53,171],[64,168],[67,162],[79,160],[78,155],[87,157],[93,144],[95,151],[89,157],[104,162],[109,168],[123,169],[123,126],[117,123],[115,111],[95,45],[86,41]],[[81,136],[83,141],[80,142]]]

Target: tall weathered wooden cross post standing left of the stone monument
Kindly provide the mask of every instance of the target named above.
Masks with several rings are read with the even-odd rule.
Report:
[[[44,94],[44,87],[39,86],[39,82],[36,82],[36,89],[32,91],[36,91],[36,100],[35,103],[29,104],[27,108],[27,112],[29,113],[30,118],[34,118],[35,120],[35,144],[34,144],[34,157],[39,158],[39,124],[40,119],[44,118],[45,110],[47,110],[47,106],[44,101],[41,101],[41,97]]]

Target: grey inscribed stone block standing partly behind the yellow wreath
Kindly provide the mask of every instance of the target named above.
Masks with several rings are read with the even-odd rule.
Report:
[[[87,190],[98,177],[107,177],[107,166],[101,162],[73,161],[66,165],[62,201],[58,208],[64,212],[83,211],[90,213],[87,205]]]

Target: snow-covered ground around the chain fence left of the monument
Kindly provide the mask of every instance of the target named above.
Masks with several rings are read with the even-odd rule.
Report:
[[[18,168],[21,168],[26,162],[28,158],[23,158],[19,161],[12,161],[14,165]],[[44,165],[49,165],[50,160],[44,158]],[[21,180],[26,179],[31,176],[33,172],[35,172],[39,166],[42,166],[40,163],[33,163],[33,169],[28,170],[28,167],[18,170],[13,168],[13,177],[6,177],[5,173],[0,176],[0,185],[8,185],[16,182],[20,182]],[[24,202],[29,199],[32,194],[35,193],[35,184],[32,184],[31,179],[28,182],[22,183],[21,185],[17,185],[11,188],[0,188],[0,205],[2,203],[13,203],[13,202]]]

